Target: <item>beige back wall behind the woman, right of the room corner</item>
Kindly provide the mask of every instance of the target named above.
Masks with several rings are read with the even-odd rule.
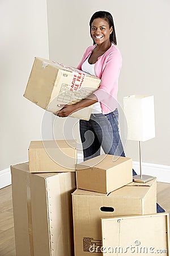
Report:
[[[113,14],[118,47],[123,57],[118,101],[131,94],[154,95],[156,138],[142,143],[142,160],[170,165],[169,67],[170,2],[168,0],[93,0],[48,3],[50,59],[76,66],[92,40],[89,20],[97,10]],[[67,121],[69,123],[69,121]],[[73,122],[73,121],[70,121]],[[54,129],[62,138],[65,120],[56,118]],[[73,124],[70,123],[70,127]],[[67,125],[69,129],[69,125]],[[70,137],[65,131],[66,137]],[[78,125],[74,135],[79,138]],[[126,155],[138,161],[138,143],[128,141]]]

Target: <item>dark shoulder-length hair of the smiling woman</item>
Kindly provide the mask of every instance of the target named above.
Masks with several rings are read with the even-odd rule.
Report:
[[[109,28],[111,27],[113,28],[112,34],[110,35],[110,42],[116,45],[117,40],[116,40],[116,33],[114,30],[113,17],[112,17],[112,14],[108,13],[108,11],[96,11],[96,13],[92,15],[90,19],[90,35],[91,35],[91,24],[94,21],[94,19],[97,19],[97,18],[105,19],[109,24]],[[94,41],[94,44],[95,44],[95,41]]]

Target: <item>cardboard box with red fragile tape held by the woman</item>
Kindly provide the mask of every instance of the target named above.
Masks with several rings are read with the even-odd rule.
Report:
[[[100,79],[56,61],[35,57],[24,97],[49,112],[57,112],[58,104],[75,104],[87,98],[100,86]],[[89,119],[92,106],[70,115]]]

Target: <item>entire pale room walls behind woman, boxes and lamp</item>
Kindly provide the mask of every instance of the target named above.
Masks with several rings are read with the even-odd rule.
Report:
[[[156,138],[142,145],[143,162],[169,166],[169,24],[168,0],[94,1],[2,0],[1,15],[1,166],[28,160],[31,140],[41,139],[44,110],[23,97],[33,58],[40,56],[76,66],[92,40],[89,20],[97,10],[113,14],[118,47],[123,57],[118,100],[130,94],[155,96]],[[48,34],[49,33],[49,34]],[[49,36],[49,49],[48,49]],[[50,55],[49,55],[50,54]],[[45,139],[52,138],[51,115]],[[71,121],[72,120],[72,121]],[[68,123],[67,123],[68,122]],[[56,133],[79,138],[70,121],[56,118]],[[67,128],[68,127],[68,128]],[[58,132],[59,131],[59,132]],[[138,161],[138,144],[128,142],[126,155]]]

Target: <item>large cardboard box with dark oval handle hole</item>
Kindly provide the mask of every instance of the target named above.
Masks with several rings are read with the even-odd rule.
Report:
[[[109,195],[76,189],[72,194],[75,256],[89,254],[90,246],[99,246],[100,218],[156,213],[156,179],[130,183]],[[128,232],[128,231],[127,231]]]

